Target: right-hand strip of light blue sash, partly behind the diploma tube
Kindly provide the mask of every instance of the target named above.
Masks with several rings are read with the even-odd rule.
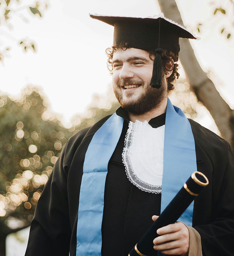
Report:
[[[168,99],[164,135],[161,212],[195,171],[197,171],[196,151],[190,122],[183,111],[172,106]],[[179,218],[188,226],[192,226],[193,205],[192,202]]]

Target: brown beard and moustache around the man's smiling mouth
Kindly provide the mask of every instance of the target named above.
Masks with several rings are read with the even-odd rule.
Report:
[[[121,107],[132,114],[142,115],[146,112],[149,112],[152,109],[157,108],[165,98],[166,86],[164,81],[162,81],[162,86],[159,89],[152,88],[149,83],[144,83],[144,81],[141,79],[135,80],[131,78],[119,80],[117,86],[121,88],[125,84],[137,84],[144,86],[144,91],[139,95],[137,99],[134,100],[130,99],[134,92],[130,92],[126,95],[129,100],[124,100],[122,93],[114,88],[115,97],[120,103]]]

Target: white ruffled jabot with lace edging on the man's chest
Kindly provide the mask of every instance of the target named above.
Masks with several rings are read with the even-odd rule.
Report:
[[[128,179],[143,191],[161,193],[165,125],[129,122],[122,153]]]

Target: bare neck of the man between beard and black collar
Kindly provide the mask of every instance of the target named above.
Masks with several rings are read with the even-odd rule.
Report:
[[[128,113],[130,121],[135,123],[136,120],[139,120],[141,122],[144,122],[145,120],[149,122],[150,119],[160,116],[161,114],[166,112],[166,105],[167,105],[167,98],[163,99],[159,106],[157,106],[155,109],[152,109],[142,115],[136,115],[133,113]]]

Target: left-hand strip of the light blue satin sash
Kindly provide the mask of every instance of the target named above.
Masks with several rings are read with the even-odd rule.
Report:
[[[94,134],[87,149],[79,199],[77,256],[101,255],[107,166],[122,128],[123,118],[112,115]]]

